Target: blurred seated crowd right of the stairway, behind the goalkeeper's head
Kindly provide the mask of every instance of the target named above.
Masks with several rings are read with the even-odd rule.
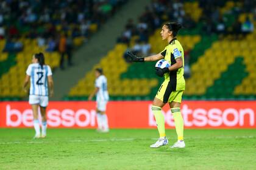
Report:
[[[235,21],[229,25],[226,15],[221,13],[221,7],[226,4],[226,1],[211,1],[211,0],[199,0],[199,7],[202,9],[202,15],[198,21],[191,18],[191,15],[184,10],[185,1],[182,0],[153,0],[148,7],[144,10],[144,13],[138,18],[138,23],[132,19],[127,21],[124,32],[117,39],[117,42],[130,44],[132,36],[137,36],[135,45],[130,47],[134,53],[147,56],[150,52],[150,44],[148,43],[149,36],[155,29],[160,28],[163,22],[172,21],[182,24],[183,29],[193,30],[198,25],[198,34],[212,34],[218,35],[232,34],[240,35],[253,32],[253,21],[256,19],[256,5],[253,1],[245,0],[241,5],[237,5],[227,11],[227,16],[235,16]],[[196,9],[195,9],[196,10]],[[249,18],[247,16],[246,21],[241,23],[238,20],[238,16],[241,13],[253,13],[254,17]],[[187,55],[185,63],[189,63],[190,52],[186,51]],[[128,62],[128,61],[127,61]],[[188,66],[188,64],[187,64]],[[185,77],[190,77],[189,66],[185,68]]]

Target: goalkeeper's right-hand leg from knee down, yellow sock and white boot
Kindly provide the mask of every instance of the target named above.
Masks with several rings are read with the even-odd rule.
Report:
[[[171,108],[171,113],[175,121],[177,141],[174,143],[171,148],[185,148],[185,142],[183,140],[183,118],[180,113],[180,103],[172,101],[169,103]]]

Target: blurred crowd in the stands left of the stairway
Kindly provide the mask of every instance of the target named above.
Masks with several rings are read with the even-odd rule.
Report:
[[[126,1],[0,1],[0,39],[7,40],[4,52],[20,52],[24,46],[20,38],[30,38],[46,46],[47,52],[59,51],[71,58],[72,40],[90,38]]]

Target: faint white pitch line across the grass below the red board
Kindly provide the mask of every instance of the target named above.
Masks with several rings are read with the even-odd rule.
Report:
[[[224,138],[255,138],[255,136],[216,136],[216,137],[186,137],[185,140],[190,139],[224,139]],[[157,140],[158,138],[151,138],[151,140]],[[40,139],[36,139],[35,141],[7,141],[0,142],[0,144],[40,144],[40,143],[54,143],[55,141],[37,141]],[[65,140],[66,142],[71,143],[89,143],[89,142],[105,142],[105,141],[133,141],[133,140],[148,140],[146,138],[109,138],[109,139],[94,139],[94,140]]]

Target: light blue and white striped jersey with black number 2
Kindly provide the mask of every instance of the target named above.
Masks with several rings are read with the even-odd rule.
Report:
[[[48,76],[52,75],[51,67],[34,63],[27,67],[26,74],[30,76],[30,95],[48,96]]]

